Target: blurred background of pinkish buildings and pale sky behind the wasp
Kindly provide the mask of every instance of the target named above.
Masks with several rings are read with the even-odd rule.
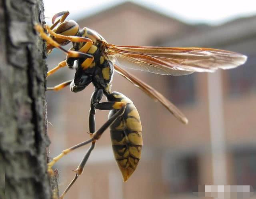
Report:
[[[68,19],[76,20],[80,28],[96,30],[112,44],[198,46],[248,56],[244,66],[214,74],[160,76],[129,70],[177,105],[189,119],[188,125],[114,74],[112,91],[132,99],[140,113],[142,158],[123,183],[107,130],[65,198],[190,199],[198,198],[192,189],[202,184],[252,185],[256,189],[256,7],[250,2],[44,0],[46,17],[69,10]],[[46,21],[50,24],[50,19]],[[65,57],[54,50],[47,59],[49,69]],[[63,68],[47,79],[47,85],[73,77],[74,71]],[[90,85],[80,93],[71,93],[69,88],[47,92],[51,157],[88,139],[93,91]],[[108,111],[96,111],[96,129],[107,116]],[[71,170],[87,149],[76,149],[56,164],[60,193],[73,179]]]

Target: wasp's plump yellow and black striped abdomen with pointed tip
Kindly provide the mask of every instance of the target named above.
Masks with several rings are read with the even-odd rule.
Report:
[[[122,95],[117,101],[125,101],[124,114],[110,126],[112,148],[117,165],[122,172],[124,181],[135,171],[140,160],[142,149],[142,127],[139,113],[130,99]],[[109,116],[116,110],[112,110]]]

